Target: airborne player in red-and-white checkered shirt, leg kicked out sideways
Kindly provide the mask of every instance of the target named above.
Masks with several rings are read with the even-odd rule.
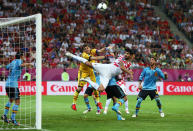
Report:
[[[132,71],[127,70],[127,61],[129,61],[133,57],[128,51],[126,51],[124,55],[119,56],[118,59],[116,59],[113,63],[110,64],[90,63],[88,62],[88,60],[73,55],[70,52],[67,52],[65,55],[84,63],[85,65],[93,68],[94,70],[96,70],[96,72],[99,73],[100,85],[91,81],[89,78],[81,79],[82,81],[90,83],[91,86],[98,91],[104,91],[109,83],[109,80],[112,77],[115,77],[123,72],[128,73],[129,75],[133,75]]]

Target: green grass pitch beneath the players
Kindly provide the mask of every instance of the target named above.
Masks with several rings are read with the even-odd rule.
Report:
[[[0,97],[0,114],[3,113],[3,99]],[[79,96],[77,101],[78,111],[71,110],[72,96],[43,96],[43,129],[44,130],[61,130],[61,131],[193,131],[193,96],[161,96],[163,111],[165,117],[161,118],[155,101],[149,98],[143,101],[139,117],[132,118],[136,104],[136,96],[128,96],[130,114],[124,112],[124,105],[120,108],[125,121],[117,121],[116,115],[111,111],[110,104],[107,115],[96,115],[96,107],[93,99],[90,97],[92,111],[84,115],[82,112],[86,109],[83,96]],[[34,97],[29,97],[32,101],[31,107],[34,106]],[[105,96],[101,101],[105,106]],[[22,99],[22,108],[26,99]],[[27,105],[28,103],[26,103]],[[21,109],[22,110],[22,109]],[[20,110],[20,112],[21,112]],[[27,110],[27,109],[26,109]],[[23,109],[20,117],[27,115]],[[32,115],[35,115],[32,113]],[[19,117],[19,116],[17,116]],[[34,116],[31,116],[32,121]],[[27,120],[26,120],[27,121]],[[20,121],[24,124],[25,120]],[[26,122],[27,123],[27,122]],[[32,124],[31,124],[32,125]],[[7,126],[0,122],[0,128]]]

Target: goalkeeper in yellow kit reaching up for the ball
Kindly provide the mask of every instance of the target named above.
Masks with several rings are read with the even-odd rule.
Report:
[[[97,49],[91,49],[88,45],[84,45],[83,46],[83,53],[82,53],[81,57],[87,59],[91,63],[94,63],[95,60],[105,59],[105,56],[96,56],[96,55],[98,53],[102,53],[110,48],[111,47],[106,47],[106,48],[102,48],[100,50],[97,50]],[[80,67],[79,67],[79,71],[78,71],[78,89],[74,93],[72,110],[75,110],[75,111],[77,110],[76,109],[76,101],[78,99],[78,95],[79,95],[81,89],[86,84],[86,82],[80,81],[80,79],[86,78],[86,77],[89,77],[93,82],[96,82],[96,78],[95,78],[95,74],[93,72],[93,69],[90,68],[89,66],[85,65],[84,63],[81,63]],[[102,108],[101,103],[99,102],[99,92],[95,90],[94,94],[96,96],[97,106]]]

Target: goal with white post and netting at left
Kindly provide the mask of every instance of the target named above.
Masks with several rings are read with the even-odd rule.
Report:
[[[41,46],[41,14],[0,18],[0,129],[41,129]]]

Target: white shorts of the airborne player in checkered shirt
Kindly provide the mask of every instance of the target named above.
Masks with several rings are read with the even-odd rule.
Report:
[[[113,64],[92,63],[92,66],[99,73],[100,83],[105,89],[113,76],[122,73],[121,69]]]

